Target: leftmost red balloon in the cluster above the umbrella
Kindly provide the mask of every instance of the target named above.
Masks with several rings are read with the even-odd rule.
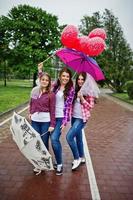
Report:
[[[76,26],[68,25],[66,26],[61,34],[61,42],[64,46],[68,48],[74,48],[75,43],[77,42],[78,38],[78,29]]]

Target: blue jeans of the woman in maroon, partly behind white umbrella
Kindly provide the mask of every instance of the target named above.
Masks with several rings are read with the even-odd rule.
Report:
[[[40,135],[42,135],[43,133],[48,131],[48,128],[50,126],[50,122],[31,121],[31,125]],[[42,141],[45,144],[47,149],[49,149],[49,136],[50,136],[49,132],[44,134],[43,136],[41,136]]]

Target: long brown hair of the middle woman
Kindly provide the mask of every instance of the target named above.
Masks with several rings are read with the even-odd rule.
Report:
[[[70,77],[69,82],[65,85],[65,89],[64,89],[64,91],[63,91],[63,93],[64,93],[64,99],[66,100],[67,97],[68,97],[68,95],[69,95],[69,91],[70,91],[71,87],[73,86],[73,81],[72,81],[72,73],[71,73],[71,71],[70,71],[67,67],[64,67],[64,68],[59,72],[59,78],[61,77],[61,75],[62,75],[63,72],[68,73],[68,74],[69,74],[69,77]],[[59,79],[59,78],[58,78],[58,80],[57,80],[57,82],[56,82],[56,84],[55,84],[55,86],[54,86],[54,88],[53,88],[53,92],[56,92],[57,89],[58,89],[58,88],[60,87],[60,85],[61,85],[61,82],[60,82],[60,79]]]

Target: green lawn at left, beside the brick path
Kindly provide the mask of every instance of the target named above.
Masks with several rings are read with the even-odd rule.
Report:
[[[0,114],[27,102],[31,87],[0,85]]]

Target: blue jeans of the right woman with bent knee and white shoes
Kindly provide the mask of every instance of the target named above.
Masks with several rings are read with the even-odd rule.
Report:
[[[72,117],[72,126],[66,135],[66,140],[72,150],[74,159],[84,156],[82,129],[85,124],[82,119]]]

